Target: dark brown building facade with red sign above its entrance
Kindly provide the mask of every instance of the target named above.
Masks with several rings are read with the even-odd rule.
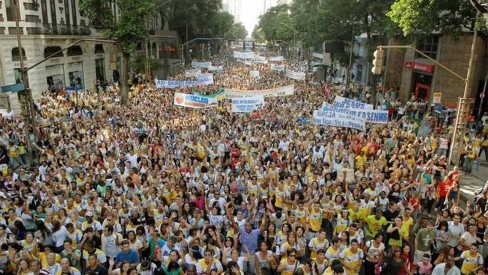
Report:
[[[390,39],[388,43],[405,44],[395,39]],[[466,33],[455,38],[448,35],[432,35],[417,41],[414,45],[416,49],[460,77],[466,78],[472,43],[472,33]],[[469,91],[469,97],[475,99],[473,109],[479,108],[485,81],[487,53],[486,41],[478,36],[472,67],[474,81]],[[455,108],[458,98],[463,96],[465,82],[462,79],[412,49],[388,49],[385,51],[385,60],[385,87],[398,88],[399,97],[403,101],[414,98]]]

